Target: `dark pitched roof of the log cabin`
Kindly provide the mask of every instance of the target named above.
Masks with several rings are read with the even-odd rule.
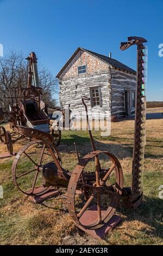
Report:
[[[128,72],[131,72],[133,74],[136,75],[136,71],[134,69],[131,69],[129,68],[129,66],[121,63],[121,62],[118,62],[118,60],[116,59],[112,59],[112,58],[109,58],[107,56],[104,56],[103,54],[99,54],[99,53],[96,53],[96,52],[92,52],[90,50],[86,50],[82,47],[78,47],[77,50],[72,54],[71,58],[68,59],[68,61],[66,62],[66,64],[63,66],[63,68],[59,71],[59,73],[57,74],[57,78],[59,78],[60,74],[62,73],[62,71],[64,71],[64,69],[66,68],[66,66],[71,62],[71,60],[74,58],[74,56],[76,56],[77,52],[78,51],[85,51],[87,53],[90,53],[92,56],[102,60],[103,62],[111,65],[111,66],[114,66],[114,68],[118,68],[118,69],[121,69],[121,70],[124,70],[124,71],[128,71]]]

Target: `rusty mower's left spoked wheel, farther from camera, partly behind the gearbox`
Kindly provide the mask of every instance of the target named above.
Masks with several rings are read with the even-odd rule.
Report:
[[[57,149],[51,147],[52,153],[58,155]],[[28,196],[40,196],[49,191],[52,186],[42,186],[42,167],[53,161],[47,145],[40,141],[32,141],[18,151],[12,164],[12,179],[16,187]]]

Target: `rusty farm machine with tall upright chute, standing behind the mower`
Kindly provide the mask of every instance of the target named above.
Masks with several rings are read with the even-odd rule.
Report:
[[[6,131],[0,126],[0,141],[7,145],[8,153],[3,156],[12,156],[12,144],[24,136],[21,136],[16,129],[17,125],[30,127],[40,131],[51,133],[54,137],[54,144],[59,145],[61,140],[61,131],[58,129],[58,123],[53,126],[48,117],[47,106],[41,100],[42,88],[39,85],[39,76],[37,72],[37,58],[34,52],[31,52],[27,59],[28,81],[27,87],[22,88],[21,84],[10,88],[9,105],[9,123],[11,132]],[[0,108],[0,120],[3,120],[4,113]],[[27,135],[27,137],[30,137]]]

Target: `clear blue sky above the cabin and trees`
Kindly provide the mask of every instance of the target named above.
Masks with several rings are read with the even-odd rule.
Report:
[[[35,51],[54,75],[78,46],[108,55],[136,68],[136,48],[120,51],[128,36],[148,40],[147,100],[163,100],[163,0],[0,0],[0,43],[9,49]]]

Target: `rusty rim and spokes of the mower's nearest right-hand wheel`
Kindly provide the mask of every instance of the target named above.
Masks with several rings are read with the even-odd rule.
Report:
[[[108,172],[105,173],[103,178],[100,180],[98,178],[98,181],[96,180],[95,183],[90,186],[89,184],[83,183],[83,186],[91,187],[92,190],[94,190],[94,193],[92,192],[90,198],[87,200],[89,204],[91,203],[91,200],[96,196],[97,194],[97,211],[98,211],[98,219],[91,223],[90,225],[87,225],[86,227],[84,224],[80,221],[80,217],[84,214],[87,207],[89,207],[89,204],[87,207],[83,207],[81,210],[81,214],[77,214],[76,206],[75,206],[75,196],[76,196],[76,190],[78,186],[82,186],[82,182],[79,182],[79,178],[82,176],[83,170],[86,167],[87,163],[89,163],[94,157],[98,157],[100,154],[106,154],[110,157],[112,160],[112,166],[110,169],[108,169]],[[109,179],[110,174],[115,169],[116,173],[116,184],[115,184],[115,193],[109,192],[111,194],[111,203],[107,210],[105,210],[105,214],[102,214],[101,209],[101,203],[100,203],[100,197],[103,193],[104,185],[107,179]],[[99,177],[99,175],[98,175]],[[84,173],[83,173],[83,179],[84,179]],[[96,175],[97,179],[97,175]],[[99,185],[97,185],[99,184]],[[83,157],[81,161],[79,161],[78,165],[74,168],[73,173],[71,175],[70,182],[68,184],[68,190],[67,190],[67,205],[68,205],[68,211],[70,215],[72,216],[73,220],[78,224],[82,225],[83,227],[87,229],[98,229],[101,228],[104,224],[106,224],[110,218],[114,215],[121,199],[122,195],[122,189],[123,189],[123,173],[120,162],[117,160],[117,158],[110,154],[107,151],[93,151]],[[99,192],[98,192],[99,191]],[[106,191],[106,188],[105,188]]]

